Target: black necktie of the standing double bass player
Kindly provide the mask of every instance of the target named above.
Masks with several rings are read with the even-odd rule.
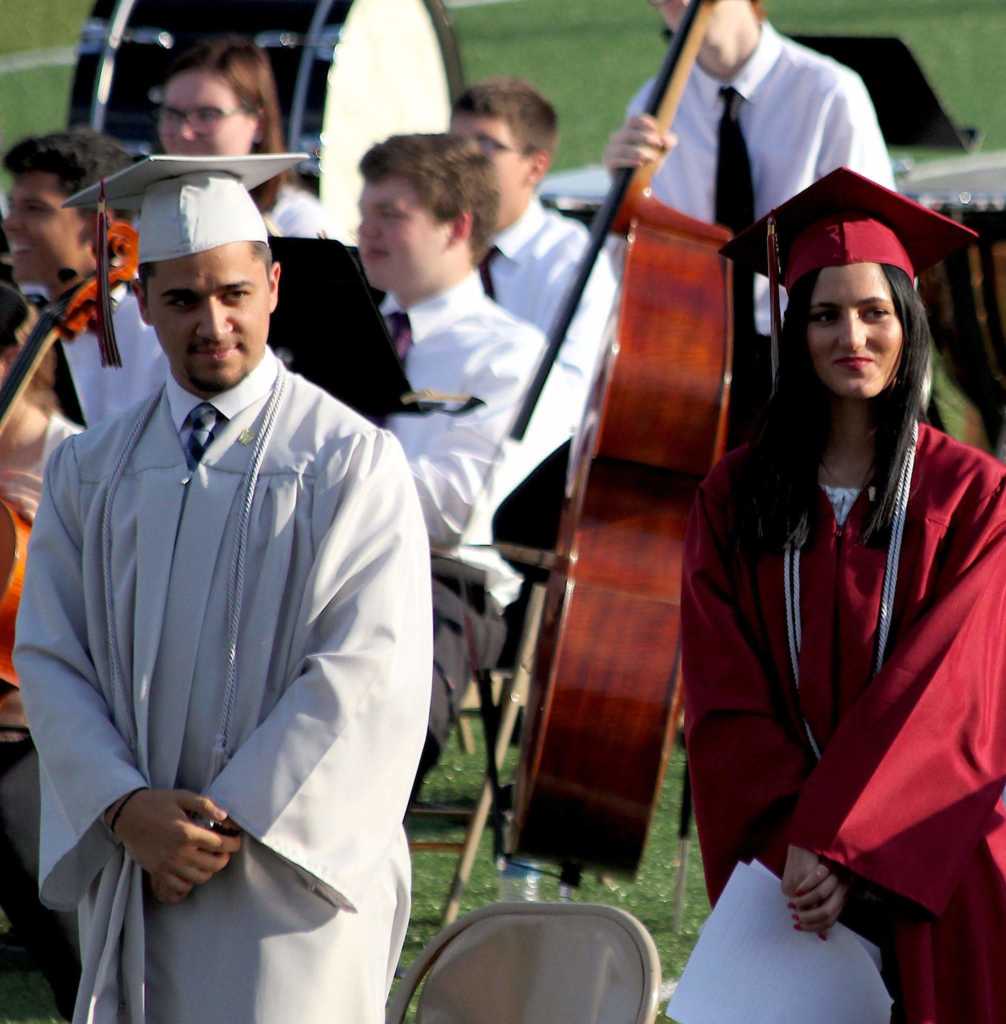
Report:
[[[731,86],[719,90],[723,116],[719,122],[719,154],[716,162],[716,220],[733,233],[754,223],[754,184],[751,160],[741,131],[744,96]],[[754,273],[740,262],[733,264],[733,336],[741,340],[754,334]],[[744,344],[744,341],[741,340]]]

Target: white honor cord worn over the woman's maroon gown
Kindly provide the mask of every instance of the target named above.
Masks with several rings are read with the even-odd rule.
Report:
[[[915,449],[919,440],[919,425],[912,429],[912,443],[902,462],[897,478],[897,495],[894,499],[894,519],[891,522],[890,539],[887,542],[887,561],[884,565],[884,586],[880,595],[880,613],[877,620],[877,647],[874,653],[873,674],[880,672],[887,650],[890,634],[891,614],[894,607],[894,592],[897,589],[897,567],[902,559],[902,541],[905,537],[905,520],[908,516],[909,493],[912,489],[912,473],[915,469]],[[790,653],[790,669],[793,685],[799,698],[800,692],[800,549],[792,544],[783,553],[783,590],[786,596],[786,639]],[[821,760],[821,748],[813,737],[810,723],[803,718],[803,728],[810,741],[814,757]]]

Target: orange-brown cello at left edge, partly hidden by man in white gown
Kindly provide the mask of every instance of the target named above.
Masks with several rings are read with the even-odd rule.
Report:
[[[125,221],[113,221],[107,229],[110,289],[132,281],[139,262],[139,236]],[[100,315],[100,282],[86,278],[45,306],[22,346],[7,376],[0,384],[0,431],[10,418],[14,403],[57,338],[73,341]],[[10,505],[0,499],[0,679],[17,682],[11,654],[14,621],[20,603],[32,527]]]

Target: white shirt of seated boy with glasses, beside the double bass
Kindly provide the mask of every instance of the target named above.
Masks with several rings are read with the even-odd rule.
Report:
[[[548,337],[589,240],[579,221],[532,199],[520,217],[493,240],[499,249],[490,267],[496,301]],[[549,410],[548,416],[568,422],[571,432],[587,400],[617,291],[611,257],[601,250],[553,371],[569,379],[573,401]]]

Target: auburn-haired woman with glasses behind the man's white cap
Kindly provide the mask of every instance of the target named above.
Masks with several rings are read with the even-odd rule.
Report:
[[[276,80],[264,51],[241,36],[205,39],[168,69],[157,131],[166,154],[245,157],[285,153]],[[322,204],[289,174],[252,191],[271,233],[339,238]]]

